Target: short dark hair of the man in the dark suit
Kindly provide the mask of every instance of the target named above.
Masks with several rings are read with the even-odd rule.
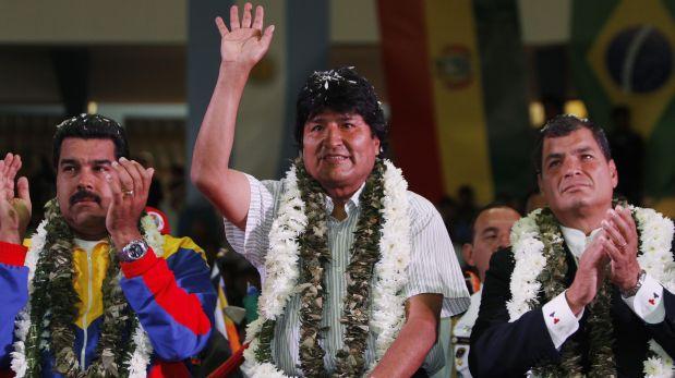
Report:
[[[549,120],[546,124],[541,127],[539,135],[537,136],[537,146],[534,148],[534,156],[532,157],[532,160],[538,174],[541,174],[542,172],[541,160],[543,158],[544,139],[567,136],[579,129],[590,130],[593,134],[595,143],[600,146],[602,155],[604,155],[607,161],[612,159],[610,142],[607,142],[607,136],[602,127],[595,125],[591,122],[591,120],[586,118],[578,118],[572,114],[561,114]]]

